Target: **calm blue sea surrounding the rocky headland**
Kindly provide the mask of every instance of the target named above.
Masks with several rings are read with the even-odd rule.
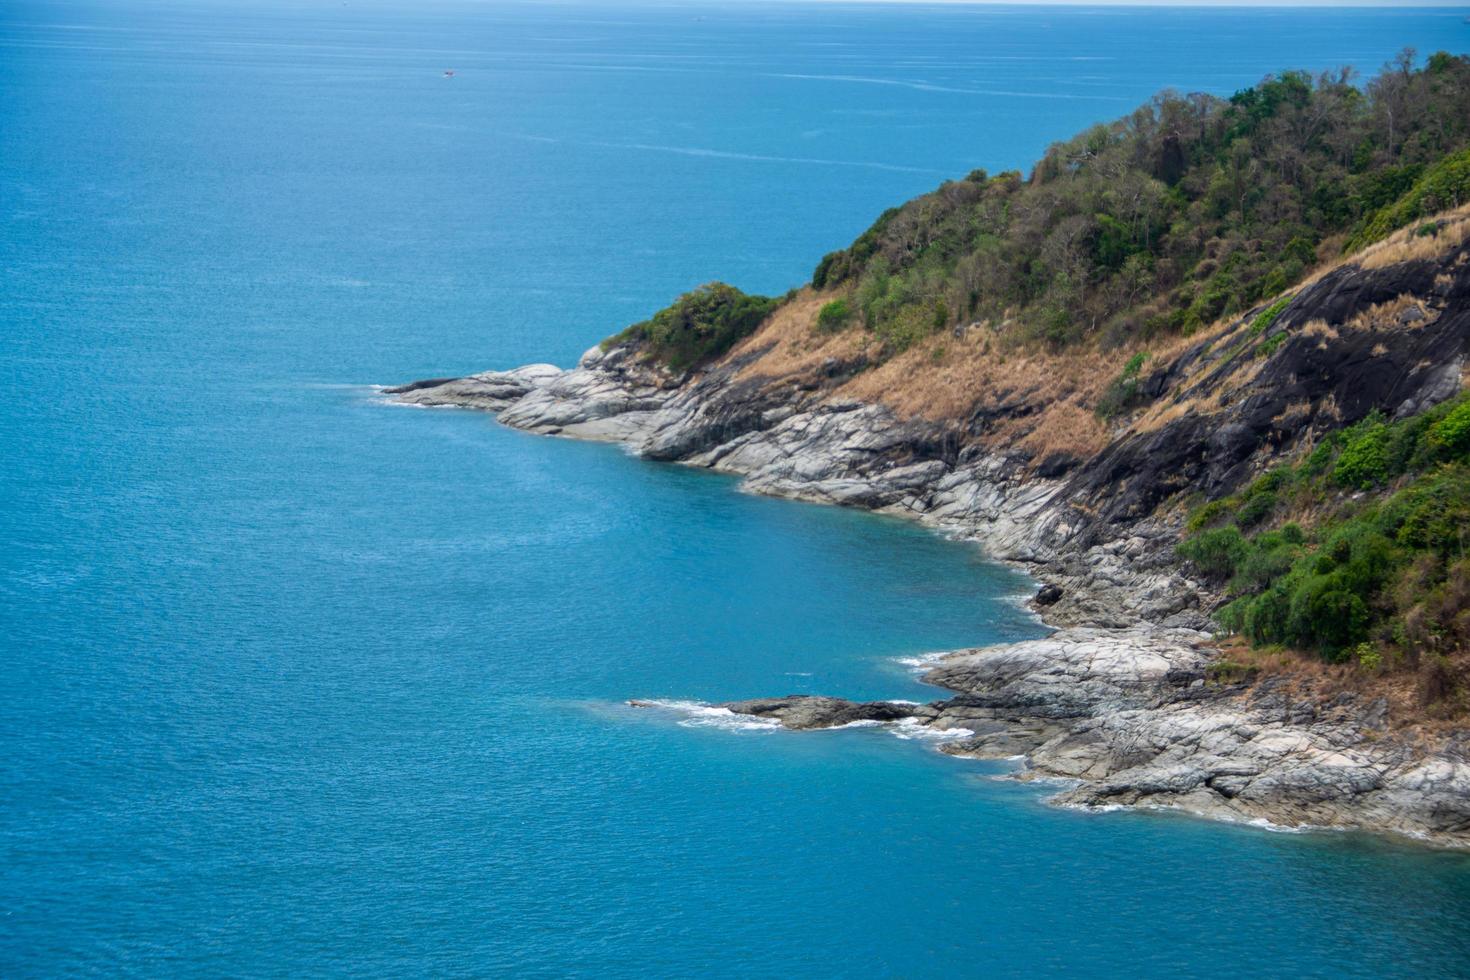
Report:
[[[372,388],[1466,13],[4,3],[0,974],[1470,976],[1467,855],[628,708],[1042,627],[916,526]]]

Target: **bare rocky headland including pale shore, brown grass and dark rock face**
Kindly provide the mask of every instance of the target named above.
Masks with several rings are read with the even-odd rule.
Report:
[[[1211,639],[1220,597],[1176,545],[1182,501],[1229,494],[1326,429],[1372,411],[1405,417],[1460,392],[1466,226],[1452,225],[1435,254],[1405,256],[1391,241],[1329,269],[1264,329],[1261,307],[1177,344],[1139,378],[1147,407],[1105,429],[1076,410],[1086,385],[1058,395],[1055,375],[1079,370],[1064,359],[1000,372],[1008,381],[963,411],[926,410],[950,383],[941,359],[875,369],[853,332],[811,329],[825,298],[811,289],[689,372],[626,341],[570,370],[532,364],[387,395],[736,473],[753,492],[920,520],[1025,569],[1041,583],[1033,607],[1058,627],[936,655],[923,677],[951,696],[932,704],[788,696],[723,705],[734,713],[791,729],[917,721],[953,733],[945,752],[1022,757],[1022,779],[1075,780],[1055,798],[1067,805],[1464,846],[1470,733],[1396,726],[1383,698],[1222,663]],[[989,363],[988,329],[956,328],[935,350]]]

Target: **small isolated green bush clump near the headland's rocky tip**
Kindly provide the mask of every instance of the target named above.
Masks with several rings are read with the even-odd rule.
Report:
[[[642,323],[607,338],[603,345],[642,341],[650,357],[682,372],[719,357],[754,334],[779,304],[781,300],[741,292],[723,282],[707,282]]]

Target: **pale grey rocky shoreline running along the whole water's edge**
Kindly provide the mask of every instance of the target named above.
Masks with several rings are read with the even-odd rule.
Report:
[[[1060,479],[980,453],[913,460],[936,435],[923,423],[819,391],[791,389],[781,404],[738,373],[736,361],[679,383],[635,351],[594,348],[572,370],[535,364],[387,394],[738,473],[753,492],[922,520],[1029,572],[1042,583],[1033,604],[1061,627],[938,657],[923,679],[954,695],[932,704],[791,696],[723,705],[731,711],[791,729],[916,718],[958,736],[944,752],[1023,757],[1020,779],[1075,780],[1055,798],[1064,805],[1470,843],[1470,742],[1424,751],[1388,732],[1382,701],[1322,701],[1211,673],[1210,595],[1175,561],[1166,520],[1080,536],[1057,505]]]

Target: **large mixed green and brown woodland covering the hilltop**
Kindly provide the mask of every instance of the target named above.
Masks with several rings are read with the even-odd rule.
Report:
[[[1053,145],[1029,179],[976,170],[822,259],[889,350],[989,319],[1069,342],[1189,332],[1319,257],[1470,200],[1470,59],[1413,53],[1364,87],[1283,72],[1230,98],[1164,93]]]

